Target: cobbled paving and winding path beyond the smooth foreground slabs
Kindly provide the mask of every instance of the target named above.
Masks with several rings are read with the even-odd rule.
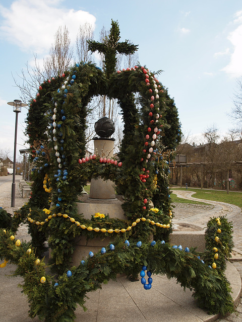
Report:
[[[9,179],[9,180],[8,180]],[[8,212],[14,214],[15,210],[22,207],[28,199],[23,199],[21,197],[21,192],[18,188],[19,180],[22,179],[21,176],[16,176],[16,199],[15,207],[11,207],[11,187],[12,187],[12,177],[7,178],[0,177],[0,206],[6,209]],[[189,200],[204,201],[192,197],[193,192],[191,191],[173,191],[179,198],[185,198]],[[233,263],[235,268],[242,277],[242,213],[241,209],[237,206],[216,202],[216,201],[204,201],[209,205],[194,205],[194,204],[181,204],[174,203],[174,221],[183,220],[184,222],[200,224],[206,226],[207,221],[210,217],[226,215],[229,221],[233,223],[233,240],[234,247],[237,251],[238,259]],[[28,235],[27,225],[21,225],[17,232],[18,238],[23,238],[25,240],[30,240]],[[229,314],[220,322],[242,322],[242,300],[240,298],[237,303],[237,308],[235,314]]]

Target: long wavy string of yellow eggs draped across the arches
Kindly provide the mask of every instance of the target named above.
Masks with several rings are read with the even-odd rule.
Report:
[[[156,208],[154,208],[156,209]],[[85,224],[81,224],[79,221],[75,220],[75,218],[73,217],[70,217],[67,213],[64,213],[62,214],[61,212],[58,212],[57,214],[56,213],[53,213],[52,215],[49,214],[48,217],[44,220],[44,221],[39,221],[39,220],[34,220],[32,219],[31,217],[31,213],[29,213],[27,215],[27,218],[28,218],[28,221],[30,223],[33,223],[33,224],[36,224],[37,226],[41,225],[43,226],[46,222],[48,222],[50,219],[52,219],[53,217],[64,217],[64,218],[68,218],[72,223],[75,223],[78,227],[81,227],[82,229],[87,229],[88,231],[92,231],[94,230],[95,232],[108,232],[108,233],[113,233],[113,232],[126,232],[126,231],[130,231],[132,229],[132,227],[135,227],[137,225],[137,223],[139,222],[145,222],[147,221],[148,223],[150,223],[151,225],[156,225],[157,227],[160,227],[160,228],[170,228],[170,224],[167,223],[167,224],[162,224],[162,223],[159,223],[159,222],[155,222],[154,220],[151,220],[151,219],[146,219],[145,217],[141,217],[141,218],[137,218],[131,226],[128,226],[127,228],[122,228],[122,229],[119,229],[119,228],[115,228],[115,229],[112,229],[112,228],[109,228],[109,229],[106,229],[106,228],[98,228],[98,227],[91,227],[91,226],[86,226]],[[172,218],[172,212],[170,211],[169,212],[169,216],[170,218]],[[170,220],[171,221],[171,220]]]

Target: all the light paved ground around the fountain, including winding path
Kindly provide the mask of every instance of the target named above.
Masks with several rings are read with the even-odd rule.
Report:
[[[13,213],[19,209],[27,199],[22,199],[16,191],[16,207],[11,208],[11,181],[2,182],[0,177],[0,206],[8,212]],[[11,178],[10,178],[11,179]],[[16,178],[16,183],[20,178]],[[178,192],[184,198],[192,198],[187,192]],[[238,255],[242,254],[242,244],[240,239],[241,211],[238,207],[208,202],[210,205],[197,206],[191,204],[176,204],[174,210],[175,220],[183,219],[190,223],[205,225],[211,216],[227,214],[229,220],[233,221],[234,242],[238,248]],[[22,225],[18,230],[18,237],[29,240],[27,226]],[[241,257],[241,256],[240,256]],[[242,262],[228,263],[226,276],[233,289],[233,298],[239,298],[242,275]],[[0,269],[0,322],[37,322],[28,317],[27,298],[21,294],[21,289],[17,287],[22,282],[20,277],[8,277],[14,270],[13,265],[7,265]],[[238,273],[239,272],[239,273]],[[117,281],[110,281],[103,285],[101,290],[88,294],[89,300],[86,303],[88,308],[84,312],[78,307],[76,311],[76,322],[212,322],[218,318],[215,315],[208,315],[196,306],[190,290],[183,291],[176,280],[167,280],[165,276],[152,276],[152,288],[145,291],[140,282],[129,282],[125,276],[119,276]],[[221,322],[242,322],[242,304],[239,302],[238,315],[229,314]]]

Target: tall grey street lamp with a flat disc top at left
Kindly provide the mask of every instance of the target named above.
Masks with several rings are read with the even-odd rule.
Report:
[[[27,106],[27,104],[22,103],[22,101],[20,100],[14,100],[13,102],[8,102],[7,104],[13,106],[13,111],[16,113],[15,138],[14,138],[14,169],[13,169],[13,183],[12,183],[12,195],[11,195],[11,207],[14,207],[15,206],[15,172],[16,172],[18,114],[21,112],[22,106]]]

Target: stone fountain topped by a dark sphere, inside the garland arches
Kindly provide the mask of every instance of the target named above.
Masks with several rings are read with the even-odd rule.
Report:
[[[114,138],[110,136],[114,133],[114,123],[107,117],[99,119],[95,125],[95,132],[99,137],[94,137],[94,151],[103,159],[103,163],[113,160]],[[110,218],[126,219],[122,209],[122,196],[115,195],[114,184],[111,180],[93,178],[90,184],[90,194],[79,196],[80,202],[77,203],[79,213],[84,218],[91,219],[92,214],[108,214]],[[85,236],[76,237],[76,249],[73,255],[74,265],[78,265],[83,257],[88,256],[89,252],[98,252],[101,247],[110,242],[110,237],[89,239]]]

